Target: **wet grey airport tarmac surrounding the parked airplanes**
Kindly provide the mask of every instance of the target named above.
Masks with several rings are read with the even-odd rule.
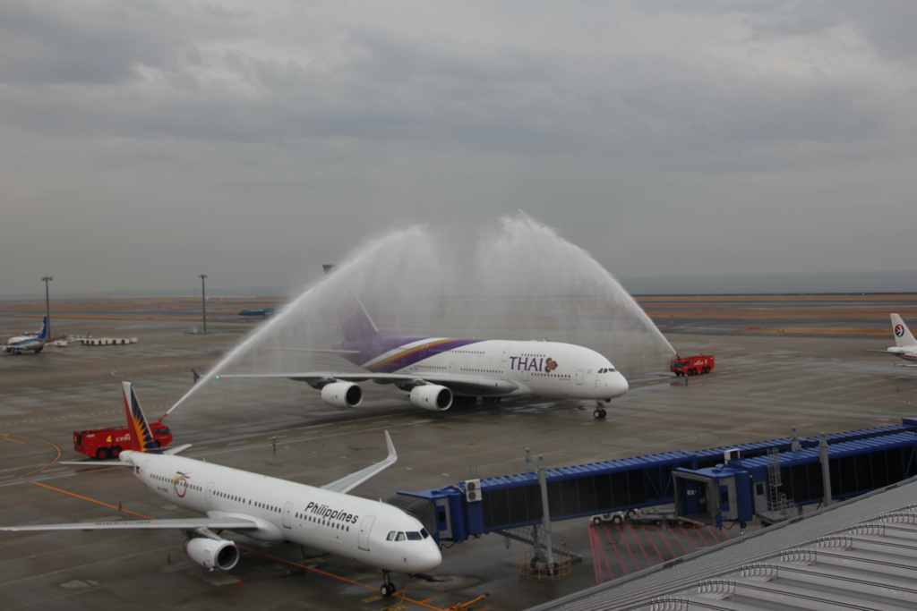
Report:
[[[666,371],[632,379],[607,420],[594,420],[589,406],[576,402],[537,399],[431,413],[373,385],[363,406],[343,410],[302,383],[235,380],[201,393],[166,423],[177,443],[194,443],[188,456],[315,486],[380,460],[382,431],[391,431],[398,462],[353,491],[384,499],[465,480],[470,465],[481,477],[522,472],[525,448],[557,467],[785,437],[791,426],[810,436],[917,416],[917,369],[867,352],[893,344],[888,312],[912,322],[917,296],[817,296],[811,307],[794,296],[756,297],[741,308],[717,298],[655,299],[641,303],[671,344],[682,355],[715,355],[716,369],[688,385]],[[260,323],[233,317],[243,303],[227,303],[225,314],[208,319],[207,335],[186,333],[200,326],[193,300],[71,304],[69,316],[52,319],[54,333],[131,336],[138,344],[0,355],[0,524],[190,515],[124,469],[54,463],[81,457],[72,431],[123,422],[122,380],[135,383],[149,417],[169,409],[191,387],[191,367],[203,373]],[[0,338],[37,329],[43,305],[0,303]],[[443,581],[397,575],[395,582],[408,586],[404,599],[381,598],[381,576],[369,568],[334,557],[304,560],[297,547],[244,536],[232,536],[244,546],[238,566],[208,573],[184,554],[179,532],[4,532],[0,610],[446,609],[485,594],[473,608],[523,609],[595,584],[586,520],[556,522],[555,529],[582,543],[583,561],[567,580],[521,578],[518,559],[529,548],[488,535],[444,550],[434,573]]]

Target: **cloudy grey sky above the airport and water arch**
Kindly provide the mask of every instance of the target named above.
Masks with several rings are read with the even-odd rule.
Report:
[[[524,209],[618,277],[912,269],[917,4],[0,3],[0,295],[299,286]]]

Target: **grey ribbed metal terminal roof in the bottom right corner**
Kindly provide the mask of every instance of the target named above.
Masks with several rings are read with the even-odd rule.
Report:
[[[529,611],[917,608],[917,478]]]

